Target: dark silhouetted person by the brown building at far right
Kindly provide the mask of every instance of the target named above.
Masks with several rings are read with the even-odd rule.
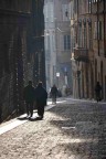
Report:
[[[96,94],[97,102],[100,100],[102,99],[102,86],[100,86],[99,82],[96,83],[95,94]]]

